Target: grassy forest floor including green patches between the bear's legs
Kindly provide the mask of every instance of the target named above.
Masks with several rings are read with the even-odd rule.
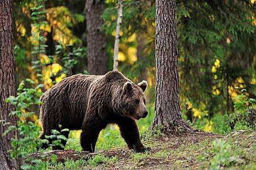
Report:
[[[96,152],[117,149],[117,155],[98,154],[89,160],[67,160],[64,163],[47,162],[47,170],[112,170],[112,169],[177,169],[177,170],[256,170],[256,132],[248,124],[237,122],[232,130],[229,117],[215,115],[211,121],[216,134],[202,136],[166,136],[159,130],[149,131],[154,116],[154,105],[149,105],[149,117],[138,121],[142,143],[151,151],[134,153],[127,149],[118,126],[108,126],[99,134]],[[194,127],[205,130],[201,119]],[[205,120],[208,121],[208,120]],[[65,149],[81,151],[79,135],[71,131]],[[213,136],[212,136],[213,135]],[[123,149],[126,148],[124,151]],[[121,150],[121,153],[118,153]]]

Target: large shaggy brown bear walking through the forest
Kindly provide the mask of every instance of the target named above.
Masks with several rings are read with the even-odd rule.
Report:
[[[138,85],[119,71],[105,75],[73,75],[48,89],[40,98],[41,139],[52,129],[82,130],[83,151],[94,152],[99,132],[109,123],[118,125],[130,149],[144,152],[136,120],[148,114],[144,91],[147,82]],[[68,137],[69,132],[61,132]],[[51,141],[50,141],[51,143]],[[61,143],[65,146],[66,141]],[[49,145],[44,144],[43,148]],[[62,149],[60,146],[54,150]]]

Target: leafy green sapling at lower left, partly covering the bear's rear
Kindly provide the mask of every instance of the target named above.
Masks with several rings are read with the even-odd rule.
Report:
[[[24,164],[21,166],[22,170],[28,169],[45,169],[46,163],[42,162],[40,159],[33,159],[26,157],[28,153],[33,153],[39,148],[43,143],[48,143],[47,139],[53,139],[50,146],[64,146],[61,144],[61,140],[67,140],[65,136],[61,135],[60,132],[68,131],[68,129],[62,129],[60,132],[57,130],[52,130],[52,135],[45,136],[47,139],[39,139],[39,134],[41,132],[40,123],[38,121],[38,116],[35,113],[35,108],[40,105],[39,97],[41,95],[41,88],[43,85],[37,85],[35,88],[25,88],[25,83],[28,85],[35,85],[35,82],[26,79],[22,81],[17,90],[17,96],[10,96],[6,99],[6,102],[16,105],[16,110],[10,113],[10,116],[16,116],[18,118],[17,127],[9,126],[7,131],[3,135],[6,135],[12,130],[17,130],[19,133],[19,138],[12,139],[13,150],[11,156],[13,158],[26,158],[27,162],[30,164]],[[32,166],[33,165],[33,166]]]

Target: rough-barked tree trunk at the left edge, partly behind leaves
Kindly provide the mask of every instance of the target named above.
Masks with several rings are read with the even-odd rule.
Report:
[[[11,159],[11,139],[17,137],[16,131],[6,136],[2,133],[10,125],[16,126],[16,117],[9,113],[15,106],[6,103],[5,99],[16,95],[15,64],[13,53],[12,0],[0,0],[0,170],[18,170],[19,161]],[[8,123],[8,125],[3,125]]]

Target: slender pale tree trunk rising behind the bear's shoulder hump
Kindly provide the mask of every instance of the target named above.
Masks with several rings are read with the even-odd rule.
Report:
[[[121,24],[122,24],[122,17],[123,17],[123,4],[122,4],[122,0],[118,0],[118,19],[117,19],[116,39],[115,39],[115,47],[114,47],[113,70],[118,69],[118,51],[119,51],[119,41],[120,41],[120,30],[121,30]]]

